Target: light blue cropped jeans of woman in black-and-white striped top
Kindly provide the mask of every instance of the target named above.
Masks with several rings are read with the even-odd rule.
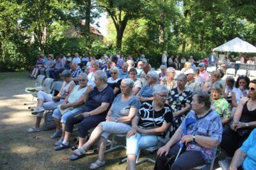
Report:
[[[157,145],[157,136],[149,134],[132,135],[126,139],[126,155],[138,155],[140,149]]]

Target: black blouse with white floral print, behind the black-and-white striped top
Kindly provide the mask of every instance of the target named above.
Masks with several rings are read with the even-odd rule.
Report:
[[[175,113],[192,102],[192,92],[186,89],[179,94],[178,88],[176,87],[170,90],[167,100],[170,102],[172,112]]]

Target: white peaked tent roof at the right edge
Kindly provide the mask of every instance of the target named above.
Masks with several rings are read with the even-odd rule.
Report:
[[[234,38],[227,43],[214,48],[213,51],[256,53],[256,47],[240,38]]]

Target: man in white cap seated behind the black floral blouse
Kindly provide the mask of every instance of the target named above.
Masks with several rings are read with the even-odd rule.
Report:
[[[197,91],[201,91],[201,86],[198,82],[196,82],[195,78],[194,78],[194,70],[193,69],[188,69],[187,71],[185,71],[185,73],[188,81],[186,83],[186,88],[189,89],[191,92],[197,92]]]

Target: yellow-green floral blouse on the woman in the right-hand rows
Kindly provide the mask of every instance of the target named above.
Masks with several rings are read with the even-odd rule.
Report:
[[[216,101],[211,99],[211,102],[212,102],[211,109],[214,110],[216,113],[218,113],[221,119],[230,118],[230,114],[231,114],[230,105],[226,99],[221,98]]]

